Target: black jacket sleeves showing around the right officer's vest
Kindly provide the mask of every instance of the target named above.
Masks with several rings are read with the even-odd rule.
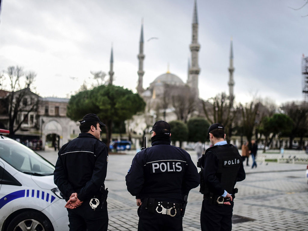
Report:
[[[229,144],[222,145],[222,147],[223,146],[229,147]],[[236,148],[234,147],[234,149]],[[238,156],[240,157],[240,154],[238,154]],[[218,169],[218,159],[217,159],[217,156],[213,153],[213,151],[209,150],[206,153],[203,166],[204,166],[203,178],[205,180],[205,184],[208,185],[210,190],[215,195],[221,196],[222,194],[224,194],[225,188],[221,185],[219,179],[216,176],[217,169]],[[245,177],[246,177],[246,174],[245,174],[245,170],[243,167],[243,162],[241,162],[241,166],[237,172],[236,182],[245,180]],[[228,192],[228,193],[232,194],[232,192]]]

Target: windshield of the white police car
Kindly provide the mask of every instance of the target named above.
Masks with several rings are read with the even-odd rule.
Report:
[[[0,142],[0,158],[18,171],[34,176],[52,175],[55,170],[43,157],[14,140]]]

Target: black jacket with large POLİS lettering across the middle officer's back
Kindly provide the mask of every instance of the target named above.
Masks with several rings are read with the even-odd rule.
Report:
[[[136,198],[153,197],[181,201],[200,183],[197,168],[190,155],[171,146],[170,140],[156,140],[152,147],[138,152],[126,175],[127,190]]]

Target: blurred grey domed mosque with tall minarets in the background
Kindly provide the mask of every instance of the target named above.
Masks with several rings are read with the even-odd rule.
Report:
[[[145,112],[140,115],[135,115],[132,120],[126,121],[127,132],[142,135],[147,132],[155,121],[157,120],[183,120],[184,122],[189,119],[188,117],[194,115],[200,115],[198,108],[201,107],[201,99],[199,99],[198,79],[200,73],[200,67],[198,64],[198,54],[200,50],[200,44],[198,43],[198,16],[197,16],[197,1],[194,1],[193,6],[193,22],[192,22],[192,41],[190,44],[191,59],[188,61],[188,76],[187,82],[177,75],[170,73],[164,73],[154,79],[147,88],[143,88],[143,76],[144,69],[143,63],[145,59],[144,54],[144,34],[143,24],[141,25],[140,41],[139,41],[139,54],[137,55],[139,61],[137,92],[146,102]],[[229,66],[229,99],[231,105],[233,105],[234,93],[233,93],[233,45],[232,40],[230,44],[230,66]],[[113,79],[113,54],[111,50],[110,59],[110,83]],[[181,98],[182,97],[182,98]],[[194,107],[194,110],[185,118],[179,118],[176,113],[175,103],[188,104],[187,107]],[[187,111],[187,110],[186,110]],[[187,114],[187,113],[186,113]]]

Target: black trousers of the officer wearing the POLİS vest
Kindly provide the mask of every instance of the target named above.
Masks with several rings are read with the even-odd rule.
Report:
[[[201,209],[201,230],[202,231],[231,231],[233,201],[231,205],[209,204],[209,200],[203,199]]]

